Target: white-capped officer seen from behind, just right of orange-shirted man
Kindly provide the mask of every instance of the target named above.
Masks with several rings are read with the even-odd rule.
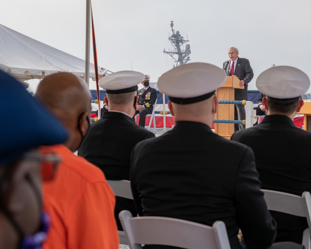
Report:
[[[130,180],[131,152],[138,142],[154,138],[150,131],[135,124],[132,119],[137,103],[137,84],[144,75],[134,71],[109,74],[99,81],[106,89],[104,101],[109,111],[91,125],[78,153],[89,162],[100,167],[108,180]],[[149,151],[146,164],[153,156]],[[115,218],[118,230],[122,230],[118,218],[120,211],[127,209],[137,215],[133,200],[116,197]]]

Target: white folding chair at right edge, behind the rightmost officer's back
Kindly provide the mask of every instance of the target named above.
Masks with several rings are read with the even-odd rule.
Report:
[[[268,210],[307,218],[309,228],[304,230],[301,244],[304,245],[306,249],[310,249],[310,193],[305,191],[302,193],[302,196],[299,196],[267,189],[262,189],[261,191],[264,193]]]

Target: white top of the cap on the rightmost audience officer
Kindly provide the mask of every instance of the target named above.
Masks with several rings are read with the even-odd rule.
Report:
[[[256,87],[269,97],[292,99],[299,97],[309,89],[310,79],[298,68],[276,66],[259,74]]]

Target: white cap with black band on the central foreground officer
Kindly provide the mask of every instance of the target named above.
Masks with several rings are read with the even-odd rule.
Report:
[[[211,97],[226,81],[221,68],[208,63],[187,63],[162,74],[159,89],[177,104],[191,104]]]

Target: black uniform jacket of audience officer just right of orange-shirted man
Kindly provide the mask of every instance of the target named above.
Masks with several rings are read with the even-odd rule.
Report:
[[[107,180],[129,180],[132,149],[138,142],[154,137],[128,115],[105,111],[100,120],[91,124],[78,153],[100,167]],[[132,200],[117,196],[115,217],[118,230],[122,230],[118,214],[123,209],[130,210],[133,215],[136,213]]]

